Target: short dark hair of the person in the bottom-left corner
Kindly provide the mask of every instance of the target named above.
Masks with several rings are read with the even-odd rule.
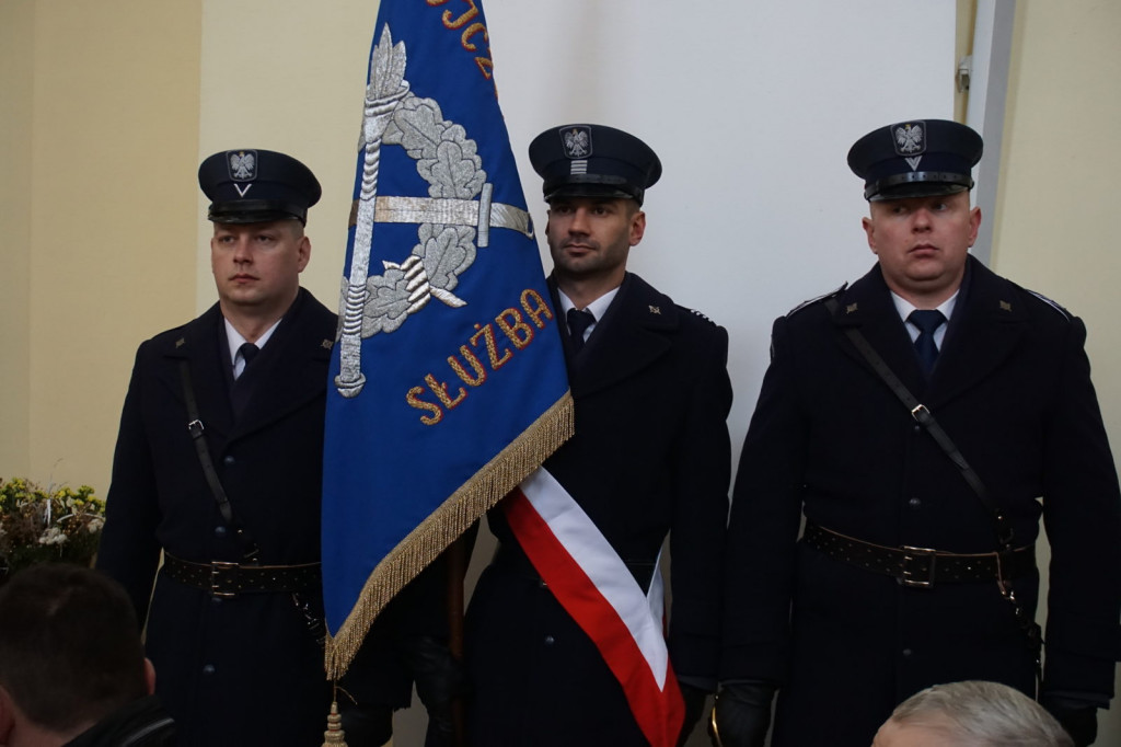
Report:
[[[63,731],[147,694],[124,589],[78,565],[36,565],[0,587],[0,685],[36,725]]]

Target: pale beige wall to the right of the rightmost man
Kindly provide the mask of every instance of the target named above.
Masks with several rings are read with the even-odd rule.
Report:
[[[1121,3],[1017,3],[994,269],[1081,316],[1094,382],[1121,454],[1121,324],[1114,230],[1121,187]],[[1117,688],[1121,690],[1121,677]],[[1121,708],[1097,744],[1121,744]]]

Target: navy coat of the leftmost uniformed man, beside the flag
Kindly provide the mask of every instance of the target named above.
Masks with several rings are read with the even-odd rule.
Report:
[[[137,351],[98,565],[128,589],[141,625],[147,618],[157,692],[182,745],[317,745],[331,701],[323,651],[290,594],[215,599],[156,577],[161,548],[202,563],[241,555],[187,433],[179,361],[189,363],[211,458],[234,517],[260,546],[261,563],[317,562],[335,326],[336,316],[302,289],[239,380],[252,394],[237,418],[216,304]],[[392,668],[382,673],[380,702],[406,704],[407,676]]]

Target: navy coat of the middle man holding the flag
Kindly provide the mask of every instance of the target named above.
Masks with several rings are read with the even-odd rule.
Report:
[[[576,433],[545,467],[624,561],[652,568],[669,534],[670,661],[679,676],[714,680],[731,471],[728,333],[628,274],[580,354],[564,342]],[[518,552],[500,509],[490,523]],[[487,569],[466,645],[471,744],[646,744],[594,644],[530,573]]]

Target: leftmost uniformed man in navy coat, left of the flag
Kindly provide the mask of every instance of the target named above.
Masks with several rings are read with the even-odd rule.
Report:
[[[198,182],[212,200],[219,302],[137,352],[98,565],[147,621],[180,744],[316,745],[332,694],[318,561],[337,321],[299,274],[321,188],[269,150],[215,154]],[[368,706],[339,698],[348,720],[365,717],[355,746],[388,739],[391,709],[408,703],[405,665],[380,643],[392,615],[353,667],[373,675],[343,681]]]

